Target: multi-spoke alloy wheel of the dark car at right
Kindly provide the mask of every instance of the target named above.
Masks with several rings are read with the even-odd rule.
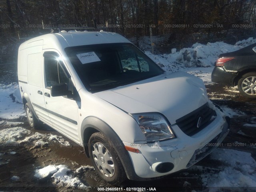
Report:
[[[243,96],[251,99],[256,98],[256,72],[244,74],[237,86]]]

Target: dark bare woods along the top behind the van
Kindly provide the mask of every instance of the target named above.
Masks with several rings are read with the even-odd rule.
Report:
[[[137,39],[152,28],[153,35],[179,41],[197,32],[210,38],[254,31],[255,21],[255,0],[2,0],[0,44],[50,28],[103,29]]]

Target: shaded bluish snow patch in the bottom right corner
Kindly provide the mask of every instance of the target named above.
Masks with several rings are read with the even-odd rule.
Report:
[[[214,187],[210,191],[222,191],[222,187],[240,187],[238,191],[243,191],[243,187],[256,187],[256,162],[250,153],[218,148],[210,158],[223,163],[220,172],[201,174],[203,186]]]

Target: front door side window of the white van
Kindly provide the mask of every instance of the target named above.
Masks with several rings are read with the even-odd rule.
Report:
[[[44,71],[46,77],[46,87],[66,83],[69,86],[69,78],[66,77],[60,62],[54,56],[44,57]]]

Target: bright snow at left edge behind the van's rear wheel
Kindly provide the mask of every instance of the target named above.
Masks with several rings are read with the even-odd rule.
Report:
[[[7,86],[0,84],[0,103],[0,118],[14,119],[25,115],[19,85],[16,82]]]

